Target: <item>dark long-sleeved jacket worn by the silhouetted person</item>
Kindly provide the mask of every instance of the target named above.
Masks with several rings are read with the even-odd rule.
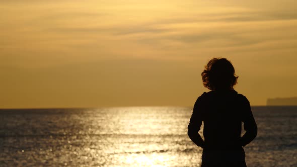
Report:
[[[204,123],[204,141],[198,134]],[[246,133],[241,137],[241,125]],[[207,151],[239,151],[257,135],[247,98],[234,90],[203,93],[196,101],[188,125],[190,139]]]

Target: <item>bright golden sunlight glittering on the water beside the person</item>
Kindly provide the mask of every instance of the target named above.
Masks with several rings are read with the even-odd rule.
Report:
[[[112,129],[110,132],[101,131],[101,134],[118,135],[110,138],[114,147],[105,150],[111,154],[113,164],[121,166],[200,164],[201,150],[189,142],[186,134],[188,114],[190,114],[188,108],[125,107],[111,110],[117,112],[112,116],[106,116],[108,118],[105,120],[106,124],[97,123]],[[110,114],[110,111],[107,113]]]

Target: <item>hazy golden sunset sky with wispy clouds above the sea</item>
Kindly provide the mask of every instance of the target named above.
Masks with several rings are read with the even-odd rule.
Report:
[[[213,57],[297,96],[296,1],[0,0],[0,30],[0,108],[193,106]]]

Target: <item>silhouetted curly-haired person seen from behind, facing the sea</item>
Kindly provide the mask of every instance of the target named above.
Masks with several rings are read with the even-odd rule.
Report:
[[[233,89],[235,69],[226,58],[213,58],[201,75],[211,91],[198,97],[188,125],[190,139],[203,148],[201,167],[246,166],[243,146],[256,137],[257,124],[248,99]],[[202,122],[204,141],[198,134]]]

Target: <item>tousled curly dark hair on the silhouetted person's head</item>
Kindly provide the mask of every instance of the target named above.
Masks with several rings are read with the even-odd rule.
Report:
[[[233,89],[238,78],[232,63],[226,58],[211,59],[201,76],[204,87],[211,91]]]

